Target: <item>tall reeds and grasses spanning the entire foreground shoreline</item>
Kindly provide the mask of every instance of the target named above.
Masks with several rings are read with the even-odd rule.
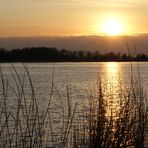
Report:
[[[54,69],[47,98],[37,95],[27,65],[24,70],[20,76],[12,65],[10,84],[0,68],[0,147],[147,146],[147,96],[140,74],[128,85],[117,84],[116,94],[100,76],[93,93],[79,104],[68,82],[64,94],[58,90]]]

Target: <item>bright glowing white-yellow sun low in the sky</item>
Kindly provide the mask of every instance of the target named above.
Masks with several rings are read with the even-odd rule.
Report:
[[[110,18],[104,21],[102,25],[102,32],[106,35],[120,35],[122,34],[123,27],[118,19]]]

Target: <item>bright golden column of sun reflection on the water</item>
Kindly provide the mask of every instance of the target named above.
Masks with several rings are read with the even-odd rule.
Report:
[[[120,65],[109,62],[105,66],[107,115],[116,116],[120,108]]]

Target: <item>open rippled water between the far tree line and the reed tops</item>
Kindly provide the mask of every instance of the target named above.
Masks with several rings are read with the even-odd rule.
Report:
[[[23,78],[25,74],[23,65],[17,63],[14,66],[19,76]],[[63,91],[68,83],[77,95],[83,95],[83,91],[88,92],[88,90],[91,90],[100,77],[103,81],[106,80],[109,83],[117,83],[119,81],[130,83],[131,73],[134,76],[138,76],[140,71],[144,88],[148,89],[148,62],[139,63],[140,70],[138,70],[137,63],[132,63],[131,65],[128,62],[29,63],[27,66],[36,93],[44,96],[50,93],[53,75],[54,84],[60,91]],[[8,81],[11,87],[15,87],[14,78],[12,77],[12,73],[14,73],[12,66],[10,64],[2,64],[1,67],[4,79]]]

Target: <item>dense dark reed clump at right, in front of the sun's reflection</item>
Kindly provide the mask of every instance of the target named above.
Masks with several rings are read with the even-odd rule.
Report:
[[[145,102],[147,98],[141,79],[133,76],[131,82],[127,87],[118,86],[120,95],[114,98],[112,92],[104,89],[106,84],[99,80],[97,95],[90,97],[89,112],[85,117],[87,126],[82,131],[82,127],[79,127],[77,134],[74,132],[74,143],[77,147],[82,147],[83,144],[86,148],[147,147],[148,118]],[[106,95],[106,92],[109,94]],[[119,99],[120,107],[117,112],[107,105],[108,98]],[[80,143],[81,132],[84,134],[83,140],[87,139],[85,143]]]

